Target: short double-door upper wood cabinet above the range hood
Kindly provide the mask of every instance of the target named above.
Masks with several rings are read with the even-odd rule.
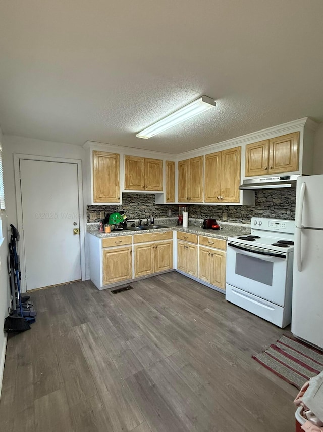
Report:
[[[246,145],[245,176],[298,170],[299,132]]]

